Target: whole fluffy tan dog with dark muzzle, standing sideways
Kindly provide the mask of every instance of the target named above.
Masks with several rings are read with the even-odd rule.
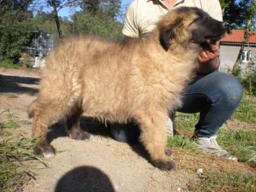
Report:
[[[71,138],[90,138],[79,127],[84,113],[109,122],[138,122],[152,163],[161,170],[173,168],[164,154],[168,111],[180,105],[205,41],[219,40],[226,28],[202,10],[185,7],[167,13],[157,26],[145,38],[125,44],[79,37],[56,48],[29,107],[32,133],[39,138],[37,154],[54,155],[45,135],[61,118]]]

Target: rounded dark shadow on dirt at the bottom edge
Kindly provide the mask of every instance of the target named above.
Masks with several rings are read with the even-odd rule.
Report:
[[[114,192],[108,175],[92,166],[79,166],[65,173],[56,184],[55,192]]]

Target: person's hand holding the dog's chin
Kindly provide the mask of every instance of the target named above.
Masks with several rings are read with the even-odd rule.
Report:
[[[199,63],[207,63],[220,56],[220,41],[212,44],[210,40],[207,40],[207,44],[198,56]]]

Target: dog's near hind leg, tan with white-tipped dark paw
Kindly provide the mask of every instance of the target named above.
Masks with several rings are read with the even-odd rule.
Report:
[[[68,106],[60,100],[49,100],[44,102],[33,102],[30,108],[33,108],[33,126],[32,136],[37,139],[35,154],[44,154],[45,157],[52,157],[55,150],[47,141],[48,127],[57,120],[64,118],[68,111]]]

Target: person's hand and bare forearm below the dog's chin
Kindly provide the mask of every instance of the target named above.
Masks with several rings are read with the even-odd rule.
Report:
[[[198,72],[208,74],[220,66],[220,42],[207,41],[204,51],[198,56]]]

